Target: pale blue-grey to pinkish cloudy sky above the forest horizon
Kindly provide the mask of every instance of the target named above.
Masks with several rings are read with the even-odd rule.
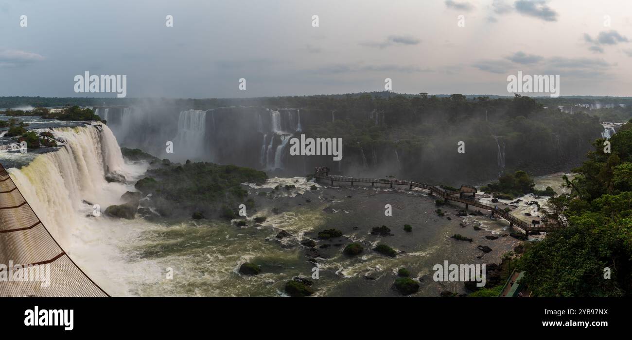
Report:
[[[85,71],[128,98],[511,95],[518,71],[631,96],[632,1],[0,0],[0,96],[116,97],[76,93]]]

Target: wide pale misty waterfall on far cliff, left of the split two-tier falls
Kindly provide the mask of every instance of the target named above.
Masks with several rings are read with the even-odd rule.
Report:
[[[206,130],[206,111],[187,110],[180,112],[178,133],[174,138],[174,159],[197,160],[204,156],[204,137]]]

